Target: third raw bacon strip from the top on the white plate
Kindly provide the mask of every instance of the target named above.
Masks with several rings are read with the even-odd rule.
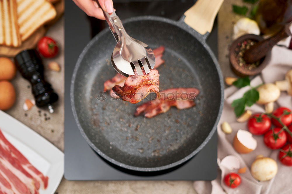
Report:
[[[27,186],[21,182],[8,168],[0,162],[0,176],[8,181],[11,185],[11,190],[16,194],[30,194]]]

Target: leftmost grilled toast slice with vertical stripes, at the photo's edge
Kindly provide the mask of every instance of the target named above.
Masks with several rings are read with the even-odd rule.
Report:
[[[0,1],[0,45],[21,45],[16,6],[16,0]]]

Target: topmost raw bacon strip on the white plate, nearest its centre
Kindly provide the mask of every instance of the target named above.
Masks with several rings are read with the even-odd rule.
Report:
[[[25,156],[23,156],[18,149],[16,149],[3,135],[0,130],[0,145],[11,153],[11,156],[18,160],[22,168],[25,169],[35,181],[38,181],[41,188],[45,189],[48,186],[48,177],[45,177],[41,172],[39,172]]]

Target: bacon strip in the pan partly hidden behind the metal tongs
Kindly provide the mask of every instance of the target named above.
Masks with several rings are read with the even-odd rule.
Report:
[[[161,64],[164,64],[164,60],[161,59],[164,49],[165,49],[164,46],[160,46],[153,50],[155,56],[154,69],[158,68]],[[114,87],[114,85],[119,85],[123,87],[125,80],[126,80],[125,76],[117,73],[112,79],[105,81],[105,83],[103,84],[103,91],[111,90],[112,87]],[[110,93],[112,94],[113,92],[110,91]],[[111,96],[117,97],[115,94]]]

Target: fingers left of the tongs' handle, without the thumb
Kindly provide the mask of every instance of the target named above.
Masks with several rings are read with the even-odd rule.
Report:
[[[100,20],[105,20],[101,8],[98,7],[97,3],[92,0],[73,0],[74,3],[82,9],[88,16],[96,17]],[[110,1],[110,0],[105,0]]]

